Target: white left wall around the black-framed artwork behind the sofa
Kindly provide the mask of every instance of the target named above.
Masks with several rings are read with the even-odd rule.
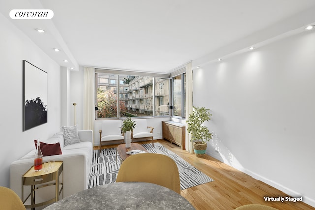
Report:
[[[60,66],[0,13],[0,185],[9,186],[11,162],[60,130]],[[48,123],[22,131],[22,60],[48,73]]]

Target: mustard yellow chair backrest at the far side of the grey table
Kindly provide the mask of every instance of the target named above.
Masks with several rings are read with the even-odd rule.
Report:
[[[120,166],[116,182],[148,182],[181,193],[178,168],[175,161],[163,154],[132,155]]]

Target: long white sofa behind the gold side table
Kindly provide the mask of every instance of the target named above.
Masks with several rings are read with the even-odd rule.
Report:
[[[64,197],[76,192],[87,189],[89,182],[89,173],[93,156],[93,132],[92,130],[78,131],[79,143],[64,146],[63,133],[56,133],[50,139],[43,141],[45,143],[60,143],[62,154],[43,157],[43,162],[48,160],[63,161],[63,179],[64,179]],[[34,144],[35,148],[35,144]],[[35,150],[11,163],[10,167],[10,188],[14,190],[20,198],[21,196],[21,177],[34,165]],[[49,187],[48,187],[49,188]],[[25,195],[29,193],[31,187],[25,187]],[[41,192],[39,192],[41,191]],[[41,188],[36,193],[36,203],[45,201],[54,197],[54,188]]]

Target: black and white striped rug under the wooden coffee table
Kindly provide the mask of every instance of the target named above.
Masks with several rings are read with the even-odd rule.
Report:
[[[176,162],[180,176],[181,190],[213,181],[213,179],[190,165],[172,151],[166,149],[158,142],[154,143],[154,147],[152,147],[151,143],[143,144],[143,147],[150,153],[167,155]],[[118,155],[117,158],[118,160],[116,161],[116,148],[103,149],[101,153],[99,153],[99,150],[93,151],[93,161],[90,169],[88,188],[114,183],[116,181],[116,176],[120,167],[120,159]]]

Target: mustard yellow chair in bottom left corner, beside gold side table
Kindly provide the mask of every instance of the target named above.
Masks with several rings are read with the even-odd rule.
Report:
[[[25,210],[25,207],[13,190],[0,186],[0,210]]]

